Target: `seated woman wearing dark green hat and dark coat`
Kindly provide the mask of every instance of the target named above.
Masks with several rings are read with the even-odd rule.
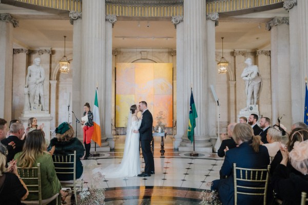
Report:
[[[76,178],[80,178],[83,173],[81,159],[84,157],[85,148],[81,141],[74,137],[74,130],[67,122],[63,122],[55,129],[56,137],[50,140],[48,151],[54,146],[54,155],[69,155],[76,151]],[[73,175],[57,174],[59,180],[72,180]]]

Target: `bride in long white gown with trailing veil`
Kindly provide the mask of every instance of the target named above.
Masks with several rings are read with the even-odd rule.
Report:
[[[92,171],[93,174],[101,173],[105,178],[131,177],[140,174],[139,133],[133,132],[134,130],[138,131],[141,125],[142,117],[138,119],[138,112],[139,108],[136,105],[130,106],[124,154],[120,165],[110,165],[106,168],[95,168]]]

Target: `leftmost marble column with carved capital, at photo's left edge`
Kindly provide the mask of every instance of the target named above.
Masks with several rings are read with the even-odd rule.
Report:
[[[12,118],[13,27],[18,22],[8,13],[0,14],[0,118]]]

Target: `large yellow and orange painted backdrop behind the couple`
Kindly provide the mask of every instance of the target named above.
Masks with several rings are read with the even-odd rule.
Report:
[[[126,127],[131,105],[146,101],[153,115],[162,111],[166,127],[172,127],[172,64],[117,63],[115,70],[115,126]]]

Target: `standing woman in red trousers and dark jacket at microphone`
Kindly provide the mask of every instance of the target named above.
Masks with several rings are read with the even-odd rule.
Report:
[[[86,103],[84,105],[84,114],[81,118],[81,125],[84,132],[84,144],[86,148],[86,155],[84,159],[88,159],[90,156],[90,149],[91,149],[91,137],[94,132],[93,127],[93,113],[90,111],[90,104]]]

